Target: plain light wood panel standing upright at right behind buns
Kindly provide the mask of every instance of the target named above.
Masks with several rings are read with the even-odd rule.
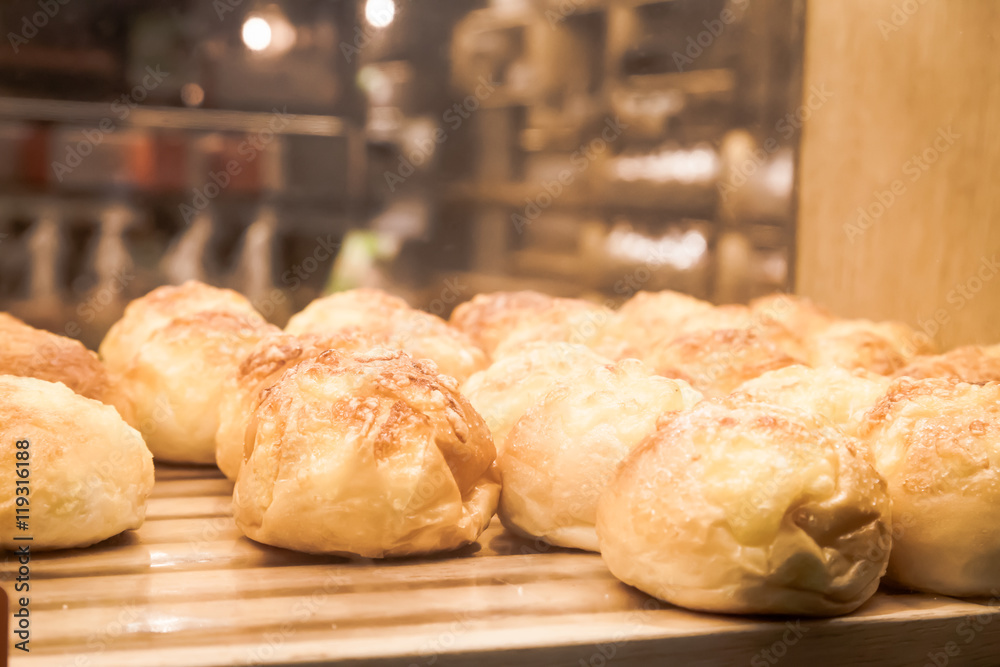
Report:
[[[796,290],[1000,341],[1000,2],[811,0],[805,48]]]

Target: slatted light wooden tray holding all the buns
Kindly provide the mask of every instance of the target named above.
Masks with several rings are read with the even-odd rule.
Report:
[[[31,653],[11,664],[1000,664],[1000,600],[884,590],[834,619],[698,614],[496,519],[478,544],[433,559],[265,547],[236,529],[231,491],[217,470],[157,466],[140,530],[34,554]],[[16,569],[8,554],[8,593]]]

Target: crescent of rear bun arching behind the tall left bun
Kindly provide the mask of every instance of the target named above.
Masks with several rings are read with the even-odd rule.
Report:
[[[246,297],[230,289],[211,287],[195,280],[183,285],[158,287],[125,308],[125,314],[101,341],[98,350],[101,359],[112,375],[122,373],[142,344],[170,320],[210,311],[256,318],[261,323],[264,321]]]

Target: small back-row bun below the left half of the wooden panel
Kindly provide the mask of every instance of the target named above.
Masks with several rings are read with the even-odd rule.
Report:
[[[917,354],[933,351],[923,334],[900,322],[837,320],[806,340],[812,366],[861,368],[892,375]]]

